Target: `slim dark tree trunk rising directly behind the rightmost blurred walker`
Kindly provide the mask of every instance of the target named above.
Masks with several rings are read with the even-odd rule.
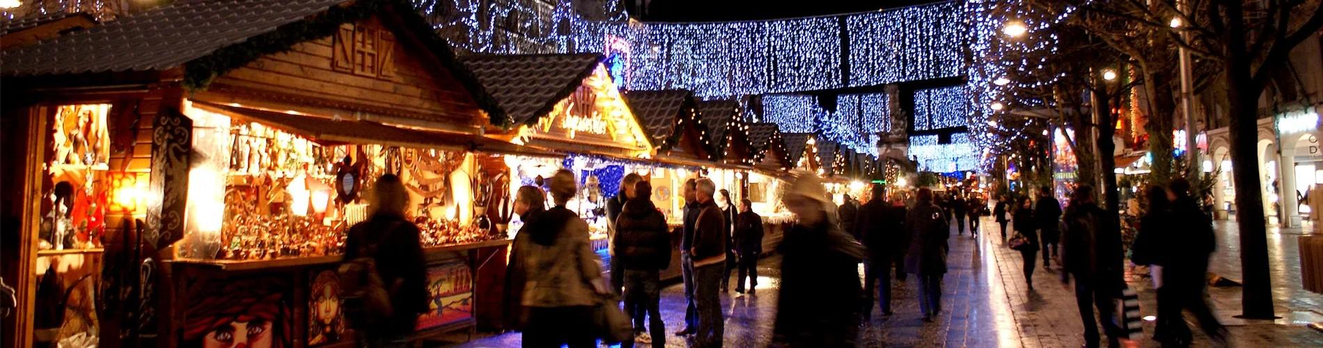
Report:
[[[1148,153],[1152,155],[1152,172],[1148,173],[1148,183],[1167,185],[1171,181],[1172,116],[1176,112],[1176,101],[1171,94],[1171,74],[1166,71],[1144,70],[1144,90],[1148,94]]]

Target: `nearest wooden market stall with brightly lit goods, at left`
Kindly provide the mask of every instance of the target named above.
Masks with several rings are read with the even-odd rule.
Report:
[[[185,1],[3,58],[7,347],[353,345],[333,267],[385,172],[423,232],[414,339],[499,320],[491,153],[553,153],[478,135],[504,111],[411,7]]]

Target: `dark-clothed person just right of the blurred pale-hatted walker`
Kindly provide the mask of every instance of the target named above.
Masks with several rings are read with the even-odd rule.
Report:
[[[905,206],[893,206],[886,201],[886,188],[873,184],[868,202],[859,208],[855,221],[855,236],[868,247],[864,261],[864,320],[872,319],[873,296],[882,315],[892,315],[892,265],[904,247],[901,236],[905,229]],[[877,292],[873,292],[877,284]]]

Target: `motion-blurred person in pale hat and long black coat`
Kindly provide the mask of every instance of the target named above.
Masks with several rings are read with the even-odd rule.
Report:
[[[777,247],[782,282],[773,347],[855,347],[864,246],[840,230],[815,176],[796,176],[782,201],[799,220]]]

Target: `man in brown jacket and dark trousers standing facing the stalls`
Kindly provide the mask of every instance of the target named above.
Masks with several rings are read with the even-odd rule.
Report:
[[[695,198],[699,202],[699,218],[693,225],[693,245],[689,255],[693,259],[693,299],[699,312],[696,347],[721,347],[725,323],[721,318],[721,275],[726,267],[725,217],[713,201],[717,185],[704,177],[695,184]]]

